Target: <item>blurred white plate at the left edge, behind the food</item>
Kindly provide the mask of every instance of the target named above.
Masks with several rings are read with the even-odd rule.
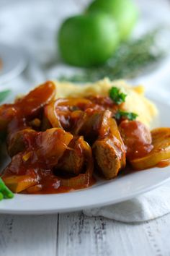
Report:
[[[21,48],[0,43],[0,85],[17,77],[26,67],[26,54]]]

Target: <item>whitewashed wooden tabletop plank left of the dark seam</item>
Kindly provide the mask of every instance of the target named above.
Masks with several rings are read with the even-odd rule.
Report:
[[[0,216],[0,255],[56,255],[57,231],[57,215]]]

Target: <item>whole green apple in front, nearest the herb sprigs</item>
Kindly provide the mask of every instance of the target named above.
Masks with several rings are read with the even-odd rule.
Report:
[[[103,64],[112,56],[118,42],[114,20],[101,12],[70,17],[58,32],[63,60],[78,67]]]

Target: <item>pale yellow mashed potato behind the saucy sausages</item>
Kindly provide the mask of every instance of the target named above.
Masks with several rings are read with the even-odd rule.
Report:
[[[135,112],[138,114],[138,120],[148,127],[151,127],[151,123],[158,113],[156,106],[144,96],[143,86],[132,87],[123,80],[110,81],[105,78],[104,80],[86,85],[55,81],[55,85],[57,88],[56,98],[74,98],[89,95],[107,96],[112,86],[120,88],[123,93],[128,95],[122,110]]]

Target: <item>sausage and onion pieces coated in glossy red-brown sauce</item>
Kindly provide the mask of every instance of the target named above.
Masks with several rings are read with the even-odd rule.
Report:
[[[153,152],[144,124],[115,119],[123,103],[99,95],[55,100],[55,90],[53,82],[45,82],[13,104],[0,106],[0,129],[7,133],[12,157],[2,179],[13,192],[84,189],[94,184],[94,171],[113,179],[125,172],[127,161],[140,162]]]

